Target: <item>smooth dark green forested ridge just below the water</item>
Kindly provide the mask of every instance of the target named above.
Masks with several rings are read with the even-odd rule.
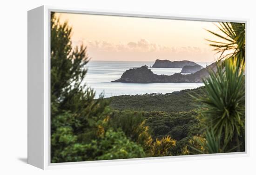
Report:
[[[167,94],[122,95],[107,99],[111,102],[110,107],[116,110],[179,112],[197,108],[199,103],[195,103],[195,98],[192,96],[203,97],[205,94],[205,89],[199,87]]]

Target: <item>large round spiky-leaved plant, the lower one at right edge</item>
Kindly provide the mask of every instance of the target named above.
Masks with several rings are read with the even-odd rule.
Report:
[[[203,79],[207,96],[197,100],[215,136],[222,137],[224,144],[235,140],[238,146],[245,118],[244,63],[235,56],[216,66],[217,71],[210,71],[209,78]],[[239,151],[239,146],[237,148]]]

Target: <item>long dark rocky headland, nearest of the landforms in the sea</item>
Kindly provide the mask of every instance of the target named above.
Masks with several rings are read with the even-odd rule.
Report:
[[[121,78],[112,82],[122,83],[201,83],[202,78],[209,76],[209,69],[214,70],[216,63],[213,63],[193,74],[183,75],[175,73],[173,75],[157,75],[153,73],[148,66],[143,65],[139,68],[125,71]]]

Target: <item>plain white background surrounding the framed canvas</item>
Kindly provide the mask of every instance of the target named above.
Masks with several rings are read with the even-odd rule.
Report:
[[[243,175],[256,173],[256,5],[253,0],[1,0],[0,1],[0,174]],[[247,74],[250,156],[133,163],[43,171],[27,161],[27,10],[41,5],[93,10],[249,18]]]

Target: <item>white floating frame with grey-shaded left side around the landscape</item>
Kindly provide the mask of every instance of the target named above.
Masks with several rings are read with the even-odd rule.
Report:
[[[214,22],[242,22],[246,24],[246,42],[248,42],[249,19],[216,18],[193,15],[174,15],[144,12],[94,11],[92,9],[62,8],[40,6],[28,11],[28,163],[40,169],[63,167],[102,166],[138,162],[179,161],[184,159],[210,159],[223,157],[249,156],[249,113],[248,87],[246,87],[246,151],[239,153],[219,153],[195,156],[167,156],[151,158],[134,158],[122,160],[88,161],[88,162],[50,162],[50,13],[83,13],[144,18],[182,19]],[[248,53],[248,47],[246,47]],[[249,64],[246,55],[247,65]],[[246,67],[248,73],[248,66]],[[246,78],[247,81],[247,78]]]

